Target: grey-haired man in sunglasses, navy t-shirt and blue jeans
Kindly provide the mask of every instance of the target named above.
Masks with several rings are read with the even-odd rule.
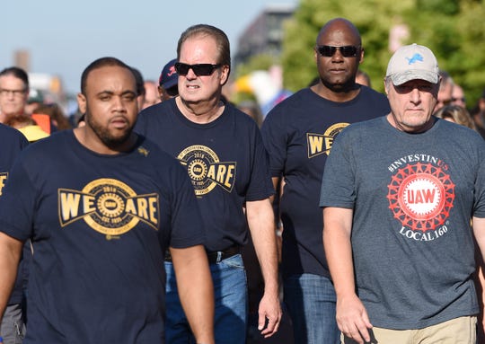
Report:
[[[241,247],[248,227],[265,282],[259,307],[259,330],[278,331],[278,257],[274,194],[268,157],[256,123],[221,100],[231,70],[229,40],[210,25],[181,34],[175,70],[179,96],[143,110],[136,130],[150,137],[187,169],[206,228],[205,243],[215,287],[216,343],[245,344],[247,287]],[[192,343],[179,302],[171,257],[167,270],[168,343]],[[194,286],[197,287],[197,286]]]

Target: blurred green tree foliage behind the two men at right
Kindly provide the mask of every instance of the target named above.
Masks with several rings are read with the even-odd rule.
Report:
[[[335,17],[354,22],[365,48],[362,70],[373,87],[384,90],[383,78],[392,52],[390,31],[405,25],[403,44],[428,46],[438,63],[476,101],[485,88],[484,0],[301,0],[286,23],[282,66],[285,86],[296,91],[317,75],[313,47],[322,25]]]

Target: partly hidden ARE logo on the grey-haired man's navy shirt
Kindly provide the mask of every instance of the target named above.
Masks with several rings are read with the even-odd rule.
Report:
[[[185,148],[177,159],[186,166],[197,197],[206,195],[216,186],[231,192],[236,176],[236,163],[223,163],[207,146]]]

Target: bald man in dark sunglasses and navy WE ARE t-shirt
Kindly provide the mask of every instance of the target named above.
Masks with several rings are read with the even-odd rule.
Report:
[[[322,244],[320,185],[333,139],[349,124],[389,113],[384,94],[356,84],[364,48],[356,26],[327,22],[314,47],[320,80],[269,112],[262,136],[269,152],[283,225],[284,299],[295,343],[337,343],[336,296]]]

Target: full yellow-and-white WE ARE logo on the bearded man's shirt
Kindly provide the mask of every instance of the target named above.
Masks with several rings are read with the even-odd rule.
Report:
[[[114,179],[91,181],[83,190],[59,189],[58,212],[62,227],[83,219],[108,240],[127,233],[143,221],[158,230],[158,194],[137,195],[127,184]]]

